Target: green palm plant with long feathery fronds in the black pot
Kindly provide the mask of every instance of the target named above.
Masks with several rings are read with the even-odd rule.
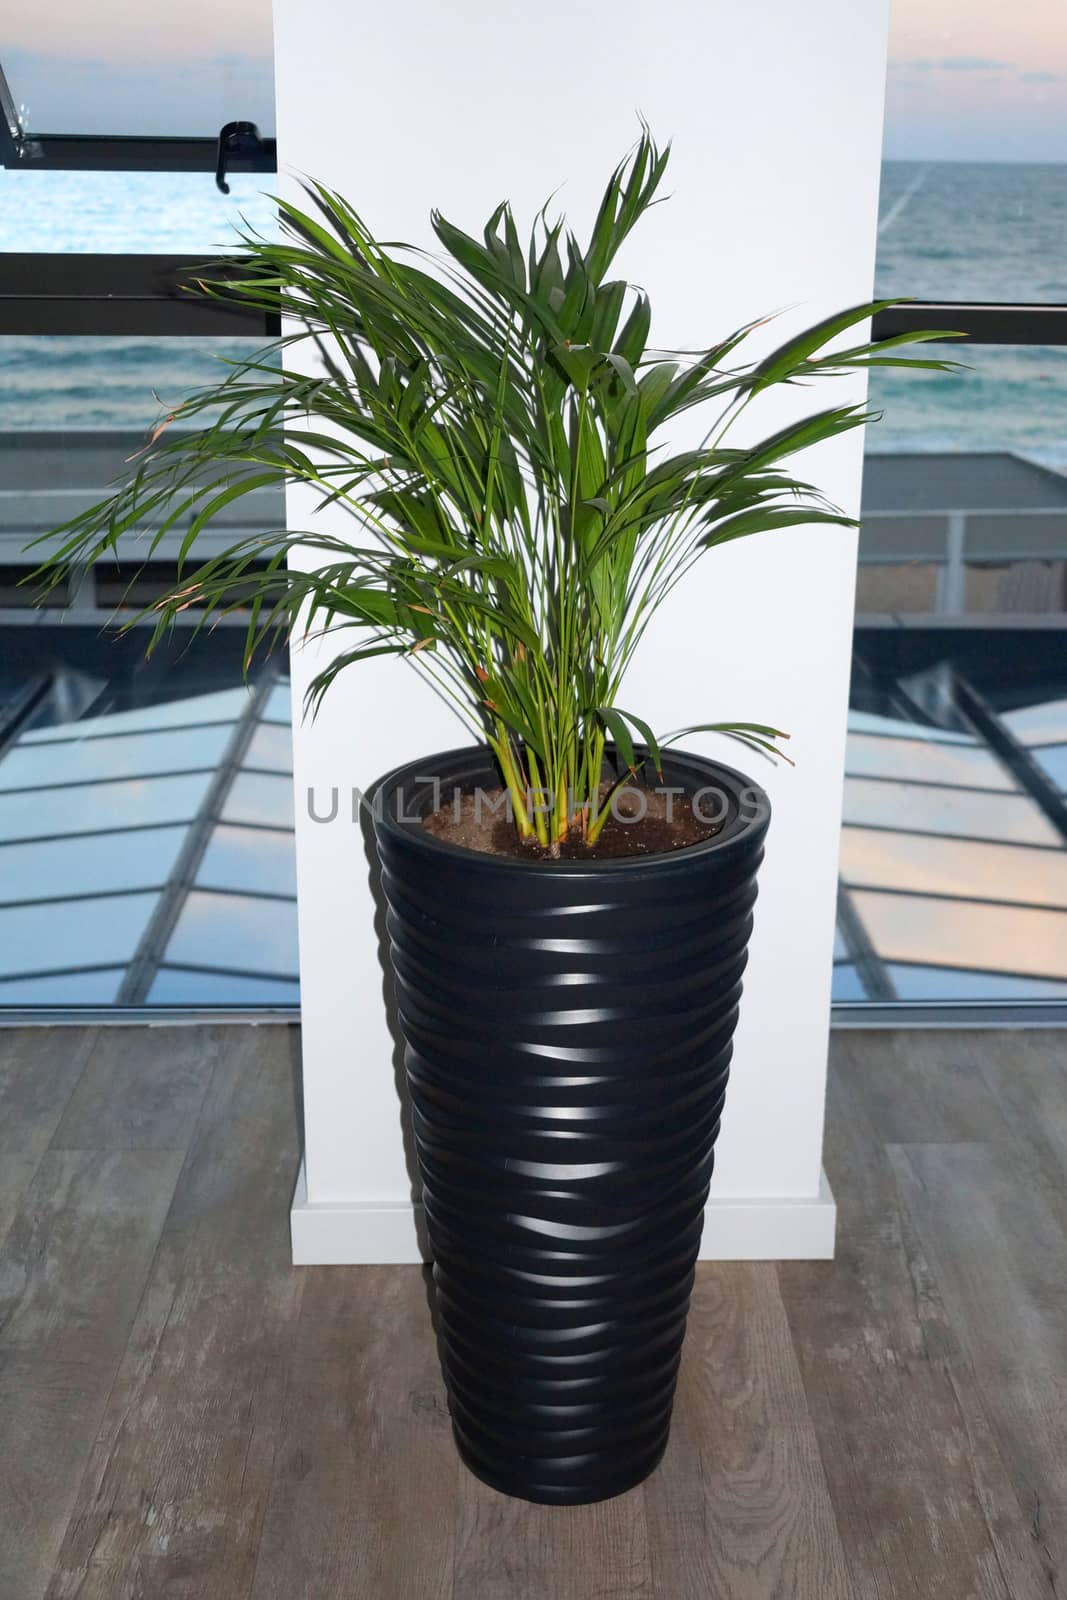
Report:
[[[784,462],[870,413],[832,406],[745,448],[726,443],[737,416],[776,384],[949,365],[893,352],[921,333],[827,350],[878,306],[758,360],[742,350],[758,323],[699,352],[653,349],[648,296],[608,272],[667,157],[645,131],[585,246],[545,208],[523,248],[499,205],[480,240],[434,213],[445,256],[427,261],[381,243],[318,184],[306,186],[307,210],[278,202],[282,242],[243,234],[246,275],[200,291],[280,309],[291,331],[166,418],[128,482],[59,530],[45,584],[136,530],[149,531],[146,555],[181,530],[152,643],[194,605],[198,626],[248,611],[246,667],[294,630],[349,629],[310,686],[312,710],[349,666],[406,656],[491,747],[520,835],[550,854],[568,835],[593,845],[609,814],[606,741],[625,776],[699,731],[657,739],[619,704],[656,606],[728,541],[854,526]],[[298,370],[290,352],[307,341],[315,360]],[[659,440],[696,406],[712,418],[702,442],[667,451]],[[274,530],[197,562],[198,534],[227,504],[285,480],[350,512],[352,538]],[[314,552],[314,571],[288,566],[296,549]],[[785,738],[752,722],[701,728],[768,754]]]

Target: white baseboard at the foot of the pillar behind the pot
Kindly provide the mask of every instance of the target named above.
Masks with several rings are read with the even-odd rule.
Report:
[[[410,1202],[310,1202],[301,1162],[290,1213],[293,1266],[371,1267],[418,1264],[416,1206]],[[712,1200],[701,1261],[829,1261],[837,1206],[825,1173],[814,1198]]]

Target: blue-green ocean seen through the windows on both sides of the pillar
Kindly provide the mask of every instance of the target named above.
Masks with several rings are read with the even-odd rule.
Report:
[[[275,227],[259,178],[0,173],[0,250],[226,248],[234,221]],[[1067,302],[1067,166],[888,162],[875,291]],[[753,307],[758,310],[758,307]],[[0,429],[147,427],[218,376],[240,339],[0,339]],[[1011,450],[1067,472],[1067,349],[971,346],[968,371],[872,373],[872,451]],[[158,402],[157,398],[158,397]]]

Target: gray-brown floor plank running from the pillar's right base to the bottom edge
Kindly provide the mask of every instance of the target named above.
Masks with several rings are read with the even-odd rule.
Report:
[[[870,1080],[912,1051],[921,1059],[925,1038],[893,1053],[835,1040],[837,1261],[782,1264],[779,1280],[857,1597],[1038,1600],[1045,1578],[1008,1466],[878,1138],[883,1091]]]

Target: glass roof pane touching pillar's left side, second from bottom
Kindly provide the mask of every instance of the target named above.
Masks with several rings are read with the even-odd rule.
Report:
[[[195,890],[166,947],[168,962],[296,978],[294,907],[286,901]]]

